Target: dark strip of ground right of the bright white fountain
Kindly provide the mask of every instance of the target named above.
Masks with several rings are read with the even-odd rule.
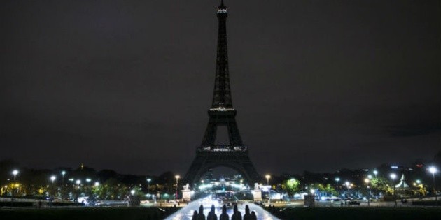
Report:
[[[280,219],[295,220],[441,219],[441,207],[293,207],[268,211]]]

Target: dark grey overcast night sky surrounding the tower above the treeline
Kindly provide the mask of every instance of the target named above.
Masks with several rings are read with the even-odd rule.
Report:
[[[207,126],[218,1],[1,1],[0,160],[184,175]],[[433,159],[440,1],[225,1],[260,173]]]

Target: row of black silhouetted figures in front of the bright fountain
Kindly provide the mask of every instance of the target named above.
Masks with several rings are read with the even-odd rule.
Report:
[[[241,212],[237,210],[237,205],[235,205],[233,211],[234,212],[231,216],[231,220],[257,220],[257,216],[255,215],[255,212],[252,211],[250,213],[250,208],[248,207],[248,205],[245,206],[245,214],[243,219]],[[201,205],[199,207],[199,213],[197,213],[196,210],[195,212],[193,212],[192,220],[218,220],[218,216],[216,215],[216,213],[214,213],[214,205],[211,205],[211,210],[207,214],[207,218],[205,218],[204,206]],[[228,216],[227,214],[227,207],[225,205],[223,205],[222,207],[222,213],[221,216],[219,217],[219,220],[230,220],[230,216]]]

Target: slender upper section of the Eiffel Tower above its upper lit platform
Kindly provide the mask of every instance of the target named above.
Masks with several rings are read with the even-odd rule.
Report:
[[[214,82],[214,94],[212,109],[232,109],[230,90],[230,76],[228,73],[228,47],[227,47],[227,7],[221,0],[218,6],[218,50],[216,59],[216,80]]]

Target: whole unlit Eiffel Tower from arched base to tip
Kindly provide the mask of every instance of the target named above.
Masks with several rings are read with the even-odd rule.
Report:
[[[237,111],[232,106],[227,51],[228,11],[223,1],[218,6],[217,17],[219,29],[216,80],[213,102],[208,110],[209,123],[202,144],[196,149],[196,158],[188,169],[183,183],[193,185],[204,173],[207,173],[207,170],[223,166],[236,170],[251,185],[258,182],[260,176],[248,156],[248,147],[242,142],[235,119]],[[230,145],[215,145],[218,126],[228,128]]]

